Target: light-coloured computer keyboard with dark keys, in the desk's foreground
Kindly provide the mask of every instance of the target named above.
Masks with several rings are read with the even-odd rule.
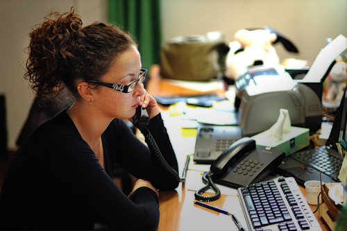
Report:
[[[280,177],[237,190],[249,230],[321,230],[294,178]]]

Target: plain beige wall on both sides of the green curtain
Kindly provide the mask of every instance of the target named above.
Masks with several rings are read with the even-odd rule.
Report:
[[[33,101],[23,79],[28,33],[51,10],[75,6],[85,25],[105,22],[107,0],[1,0],[0,93],[6,94],[8,145],[22,128]],[[161,0],[162,38],[222,31],[230,42],[240,28],[271,26],[291,39],[300,55],[276,45],[280,58],[313,60],[327,37],[347,36],[346,0]]]

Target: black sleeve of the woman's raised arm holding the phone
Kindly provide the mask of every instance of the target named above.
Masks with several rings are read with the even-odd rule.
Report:
[[[129,131],[126,125],[121,127],[121,159],[122,165],[137,178],[149,180],[152,185],[160,190],[171,190],[178,187],[178,180],[162,166],[161,162],[149,148],[144,145],[132,132]],[[171,146],[169,135],[164,127],[160,114],[153,117],[149,122],[149,131],[155,139],[158,148],[164,159],[167,161],[174,171],[178,173],[178,163],[174,149]],[[146,139],[146,143],[149,144]]]

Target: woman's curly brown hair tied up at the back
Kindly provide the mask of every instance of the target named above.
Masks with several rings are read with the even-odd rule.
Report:
[[[31,31],[24,78],[37,96],[58,94],[66,86],[78,98],[77,79],[99,80],[117,55],[135,44],[117,26],[82,24],[71,8],[62,14],[51,12]]]

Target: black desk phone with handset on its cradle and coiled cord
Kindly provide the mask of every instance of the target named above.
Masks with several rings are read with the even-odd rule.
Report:
[[[260,182],[276,169],[284,157],[285,153],[277,149],[257,146],[254,139],[239,139],[219,155],[211,164],[209,172],[203,174],[203,182],[207,185],[196,191],[195,198],[203,201],[217,200],[220,191],[214,182],[232,188]],[[215,194],[202,196],[208,189],[212,189]]]

